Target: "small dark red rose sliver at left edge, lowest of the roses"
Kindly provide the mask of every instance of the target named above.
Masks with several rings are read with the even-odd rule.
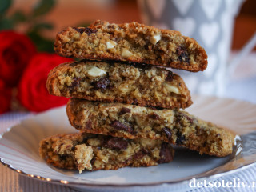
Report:
[[[11,89],[0,79],[0,114],[10,110]]]

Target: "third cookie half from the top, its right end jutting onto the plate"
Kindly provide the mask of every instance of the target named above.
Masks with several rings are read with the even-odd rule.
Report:
[[[230,131],[182,110],[71,98],[66,111],[70,124],[88,133],[161,139],[218,157],[231,154],[233,150],[234,135]]]

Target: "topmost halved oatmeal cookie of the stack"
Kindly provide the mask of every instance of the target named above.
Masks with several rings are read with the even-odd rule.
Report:
[[[95,21],[89,27],[67,27],[57,34],[54,50],[64,57],[111,59],[205,70],[207,54],[193,38],[138,22]]]

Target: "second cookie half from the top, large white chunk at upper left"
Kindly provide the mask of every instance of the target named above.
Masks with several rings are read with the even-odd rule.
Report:
[[[190,91],[178,74],[114,61],[64,63],[50,71],[47,88],[56,96],[99,102],[183,109],[192,104]]]

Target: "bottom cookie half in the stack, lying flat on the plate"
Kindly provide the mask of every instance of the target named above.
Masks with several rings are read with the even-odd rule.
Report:
[[[97,134],[60,134],[40,142],[47,163],[68,170],[118,170],[124,166],[156,166],[171,162],[170,144],[146,138],[134,140]]]

